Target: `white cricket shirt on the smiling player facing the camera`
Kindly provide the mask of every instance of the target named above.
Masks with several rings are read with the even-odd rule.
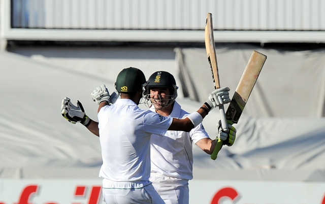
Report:
[[[150,108],[155,112],[154,107]],[[175,101],[171,117],[183,119],[189,113]],[[192,142],[209,138],[202,123],[190,132],[168,130],[166,137],[151,136],[151,172],[169,177],[191,180],[193,178]]]

